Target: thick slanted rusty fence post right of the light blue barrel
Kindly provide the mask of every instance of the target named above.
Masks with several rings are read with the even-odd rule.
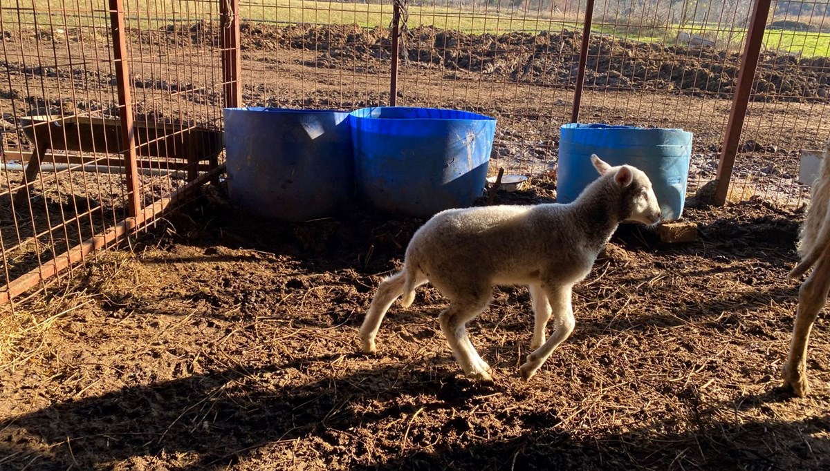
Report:
[[[738,87],[735,90],[735,97],[732,99],[729,124],[726,125],[726,136],[723,148],[720,151],[720,162],[718,163],[717,187],[713,200],[715,205],[718,206],[725,204],[726,196],[729,193],[732,169],[735,168],[735,156],[738,154],[740,134],[744,128],[746,109],[749,105],[749,92],[752,91],[755,68],[758,66],[761,46],[764,44],[764,28],[767,17],[769,17],[770,2],[771,0],[756,0],[752,11],[752,20],[749,23],[749,32],[746,34],[744,57],[738,74]]]

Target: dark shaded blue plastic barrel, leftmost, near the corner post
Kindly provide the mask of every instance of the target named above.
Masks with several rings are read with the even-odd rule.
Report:
[[[259,216],[308,221],[333,216],[354,193],[349,113],[226,108],[227,185],[232,202]]]

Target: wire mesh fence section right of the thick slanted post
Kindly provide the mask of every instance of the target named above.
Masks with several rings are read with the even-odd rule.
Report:
[[[798,184],[800,150],[823,149],[830,134],[830,19],[822,2],[773,5],[730,193],[786,206],[808,197]]]

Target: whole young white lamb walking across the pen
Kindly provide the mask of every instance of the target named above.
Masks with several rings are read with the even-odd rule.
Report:
[[[403,270],[378,286],[359,337],[363,351],[374,339],[388,308],[403,294],[408,307],[415,288],[431,282],[450,300],[439,317],[452,353],[466,376],[491,382],[465,325],[491,301],[495,284],[527,284],[533,299],[534,351],[520,368],[530,379],[574,330],[571,288],[584,279],[621,221],[652,225],[660,206],[645,173],[611,167],[591,156],[601,177],[569,204],[484,206],[442,211],[427,221],[407,247]],[[554,333],[545,341],[551,314]]]

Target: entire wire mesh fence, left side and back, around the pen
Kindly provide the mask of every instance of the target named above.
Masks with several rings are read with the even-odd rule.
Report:
[[[593,22],[583,51],[588,5]],[[498,119],[491,172],[551,181],[559,126],[574,111],[583,123],[680,127],[695,134],[689,192],[696,192],[715,179],[724,143],[735,135],[730,112],[753,21],[748,0],[110,6],[117,8],[66,0],[0,5],[6,298],[15,280],[39,281],[50,263],[61,276],[71,263],[56,263],[59,255],[90,240],[111,243],[146,226],[183,189],[215,180],[224,104],[475,111]],[[808,197],[798,183],[799,152],[822,148],[830,134],[825,8],[819,1],[769,8],[731,201],[757,195],[784,206]],[[237,56],[241,74],[233,71]],[[237,87],[241,100],[228,101]],[[132,134],[122,128],[128,120]],[[38,165],[28,165],[32,159]]]

